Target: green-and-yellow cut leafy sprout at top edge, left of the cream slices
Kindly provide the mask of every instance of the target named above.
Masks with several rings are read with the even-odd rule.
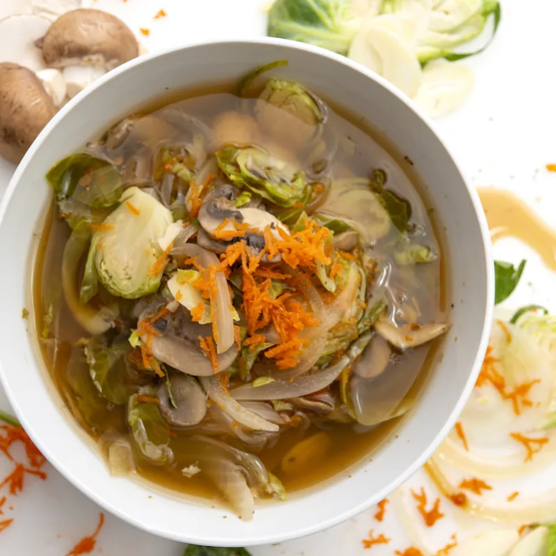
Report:
[[[361,27],[350,0],[277,0],[268,14],[268,35],[346,54]]]

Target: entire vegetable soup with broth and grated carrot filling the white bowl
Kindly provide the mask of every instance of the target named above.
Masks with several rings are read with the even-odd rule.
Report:
[[[260,73],[54,165],[35,272],[44,361],[111,473],[243,519],[368,454],[447,329],[414,184],[302,84]]]

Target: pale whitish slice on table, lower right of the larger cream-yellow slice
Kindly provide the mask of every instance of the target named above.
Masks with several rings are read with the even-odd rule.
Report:
[[[435,60],[425,66],[414,101],[430,117],[441,117],[465,103],[475,75],[461,63]]]

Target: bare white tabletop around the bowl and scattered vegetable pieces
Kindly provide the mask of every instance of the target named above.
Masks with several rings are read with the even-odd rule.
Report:
[[[3,0],[0,0],[3,1]],[[85,4],[111,11],[134,31],[149,28],[148,37],[138,35],[149,51],[156,51],[203,38],[240,38],[263,35],[265,14],[261,0],[85,0]],[[160,9],[167,17],[153,19]],[[441,137],[451,147],[470,183],[514,191],[547,222],[554,222],[556,174],[546,171],[556,162],[556,2],[553,0],[502,0],[502,23],[494,44],[468,65],[475,70],[477,85],[471,99],[457,113],[436,122]],[[6,190],[14,167],[0,160],[0,194]],[[448,184],[447,184],[448,186]],[[22,215],[24,217],[24,215]],[[509,306],[539,303],[555,310],[550,286],[552,272],[539,256],[516,240],[496,245],[498,259],[516,262],[528,259],[528,266]],[[3,272],[9,272],[4,266]],[[0,388],[0,407],[10,410]],[[97,525],[99,507],[85,498],[53,468],[46,466],[48,478],[42,482],[26,477],[26,486],[10,497],[2,518],[14,518],[0,534],[1,556],[63,556],[81,537]],[[0,457],[0,477],[10,473]],[[550,475],[550,473],[549,473]],[[552,477],[556,473],[552,471]],[[539,476],[536,486],[546,486]],[[533,481],[534,483],[535,481]],[[552,478],[555,483],[556,479]],[[411,486],[427,484],[423,472],[409,481]],[[534,484],[528,488],[535,489]],[[436,495],[435,495],[436,496]],[[0,492],[1,498],[1,492]],[[458,538],[484,525],[462,520],[458,510],[448,508],[448,518],[427,532],[436,550],[456,530]],[[387,507],[384,523],[377,523],[370,509],[336,528],[306,539],[275,546],[254,548],[254,556],[373,556],[393,555],[409,546],[398,523],[395,509]],[[460,512],[461,513],[461,512]],[[384,532],[392,541],[385,546],[363,550],[361,539],[368,530]],[[106,523],[93,554],[104,556],[181,556],[183,545],[136,530],[106,514]]]

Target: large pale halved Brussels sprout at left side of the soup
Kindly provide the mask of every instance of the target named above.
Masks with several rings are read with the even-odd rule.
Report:
[[[133,300],[158,290],[167,262],[158,240],[171,223],[172,214],[154,197],[136,187],[125,191],[91,242],[99,279],[112,295]]]

